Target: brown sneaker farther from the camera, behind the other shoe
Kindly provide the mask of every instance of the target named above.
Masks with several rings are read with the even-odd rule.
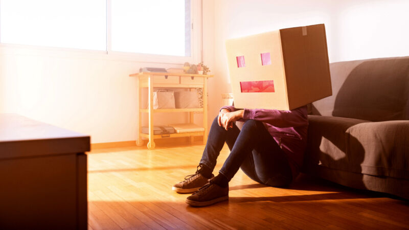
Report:
[[[209,178],[206,178],[199,173],[199,167],[200,165],[197,166],[195,174],[187,175],[185,180],[176,183],[176,185],[172,187],[172,190],[177,193],[194,193],[202,186],[206,185],[209,182]],[[213,177],[214,175],[212,174],[211,178]]]

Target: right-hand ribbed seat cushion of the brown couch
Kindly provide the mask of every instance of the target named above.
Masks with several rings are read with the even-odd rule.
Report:
[[[361,173],[409,179],[409,121],[360,123],[347,133],[347,155]],[[355,154],[362,148],[363,158]]]

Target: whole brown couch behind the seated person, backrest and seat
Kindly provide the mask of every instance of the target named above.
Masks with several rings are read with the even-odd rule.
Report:
[[[309,105],[304,172],[409,199],[409,57],[330,71],[333,96]]]

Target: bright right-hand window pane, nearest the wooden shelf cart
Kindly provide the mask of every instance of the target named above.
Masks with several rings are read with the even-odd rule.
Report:
[[[111,50],[190,56],[190,0],[111,1]]]

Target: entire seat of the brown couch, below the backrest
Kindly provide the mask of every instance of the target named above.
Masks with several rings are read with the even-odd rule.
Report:
[[[409,121],[308,116],[304,164],[409,179]]]

